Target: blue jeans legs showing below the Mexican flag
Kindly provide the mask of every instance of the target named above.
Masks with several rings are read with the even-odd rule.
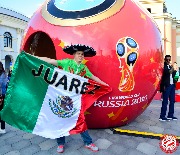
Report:
[[[83,142],[85,145],[89,145],[92,143],[92,138],[90,137],[88,131],[84,131],[81,134],[81,137],[83,139]],[[57,138],[57,143],[58,143],[58,146],[59,145],[64,145],[65,144],[65,137],[60,137],[60,138]]]

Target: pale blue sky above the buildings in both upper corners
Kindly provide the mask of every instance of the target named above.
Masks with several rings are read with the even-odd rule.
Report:
[[[77,2],[78,0],[74,1]],[[165,1],[168,12],[172,13],[173,18],[176,17],[176,19],[180,20],[180,0]],[[30,18],[44,2],[45,0],[0,0],[0,6],[17,11]]]

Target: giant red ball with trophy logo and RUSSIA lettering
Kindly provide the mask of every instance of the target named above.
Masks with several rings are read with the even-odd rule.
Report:
[[[162,39],[150,13],[133,0],[49,0],[29,21],[21,49],[55,59],[85,44],[91,72],[112,87],[85,112],[89,128],[122,126],[151,103],[162,75]]]

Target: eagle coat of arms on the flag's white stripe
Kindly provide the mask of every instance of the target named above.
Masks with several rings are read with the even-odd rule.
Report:
[[[77,111],[73,108],[73,100],[69,96],[58,96],[55,101],[49,99],[52,112],[61,118],[69,118]]]

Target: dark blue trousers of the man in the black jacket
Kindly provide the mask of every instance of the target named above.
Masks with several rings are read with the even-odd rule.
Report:
[[[168,117],[172,117],[174,115],[174,103],[175,103],[175,85],[174,84],[169,85],[163,92],[163,101],[162,101],[161,114],[160,114],[161,118],[166,117],[168,100],[170,101]]]

